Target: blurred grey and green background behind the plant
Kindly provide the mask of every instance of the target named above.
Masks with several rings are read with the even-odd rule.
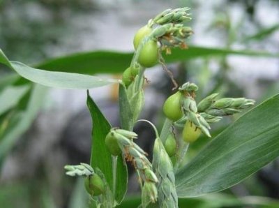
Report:
[[[137,29],[162,10],[183,6],[191,8],[193,17],[189,25],[195,34],[188,41],[190,48],[222,51],[213,56],[210,50],[199,50],[201,55],[195,59],[169,64],[179,84],[186,80],[197,83],[197,100],[219,91],[222,96],[245,96],[260,103],[278,93],[279,58],[274,55],[279,53],[276,0],[2,0],[0,48],[10,60],[31,66],[76,52],[133,52]],[[235,55],[236,51],[247,50],[258,54]],[[262,55],[263,51],[271,56]],[[5,90],[18,84],[13,76],[0,66],[2,106]],[[172,93],[172,83],[160,66],[148,70],[146,77],[151,84],[146,89],[142,117],[160,126],[161,107]],[[82,181],[66,177],[63,172],[66,163],[89,161],[91,121],[85,105],[86,92],[38,89],[33,105],[29,105],[31,91],[21,90],[14,108],[0,114],[0,207],[87,207],[89,200]],[[117,126],[114,87],[92,89],[91,94]],[[22,114],[27,119],[18,119]],[[239,116],[213,126],[213,135]],[[137,131],[151,136],[146,126],[139,126]],[[195,142],[186,161],[208,141],[200,138]],[[151,140],[143,139],[140,144],[150,151]],[[135,176],[130,175],[128,191],[137,195]],[[274,161],[241,184],[218,195],[182,200],[180,207],[279,207],[278,198],[279,168],[278,161]],[[133,197],[122,207],[137,207],[137,203],[138,198]]]

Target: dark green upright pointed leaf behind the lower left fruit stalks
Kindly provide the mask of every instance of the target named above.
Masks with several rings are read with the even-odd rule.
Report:
[[[110,132],[112,126],[90,97],[89,91],[87,91],[87,106],[93,121],[90,165],[94,170],[99,168],[103,172],[107,179],[107,184],[109,184],[110,189],[113,190],[112,155],[105,146],[105,137],[107,133]],[[127,191],[128,173],[126,163],[123,163],[123,158],[121,156],[117,157],[116,163],[115,200],[120,203]]]

